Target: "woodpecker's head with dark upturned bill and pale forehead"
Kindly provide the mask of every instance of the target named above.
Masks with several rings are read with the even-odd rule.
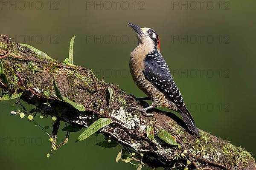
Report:
[[[139,43],[142,43],[147,46],[153,46],[160,51],[160,38],[157,35],[156,31],[151,28],[140,28],[134,24],[129,23],[129,26],[134,29],[137,34],[137,39]]]

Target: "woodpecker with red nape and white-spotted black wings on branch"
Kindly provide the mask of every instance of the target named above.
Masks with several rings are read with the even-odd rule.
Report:
[[[131,52],[130,71],[136,85],[152,100],[147,108],[132,107],[145,116],[148,109],[166,107],[180,113],[188,129],[198,134],[195,121],[184,104],[172,74],[160,53],[160,38],[151,28],[140,28],[129,23],[137,34],[138,45]]]

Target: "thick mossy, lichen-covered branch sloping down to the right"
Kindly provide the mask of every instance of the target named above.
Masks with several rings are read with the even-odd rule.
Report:
[[[127,152],[143,153],[143,163],[149,167],[256,169],[255,160],[249,152],[203,130],[200,130],[199,136],[190,135],[184,129],[183,121],[173,113],[153,109],[151,112],[155,114],[154,117],[144,117],[138,111],[129,111],[131,105],[145,107],[146,103],[137,103],[125,91],[98,80],[86,68],[63,65],[54,59],[41,57],[29,48],[11,42],[5,35],[0,35],[0,59],[9,80],[8,86],[0,81],[0,88],[5,94],[23,92],[21,99],[36,105],[38,112],[83,127],[88,127],[99,117],[113,119],[110,125],[99,132],[111,136]],[[69,103],[58,99],[53,87],[53,77],[61,95],[83,105],[85,111],[78,111]],[[111,99],[108,88],[113,90]],[[153,141],[146,135],[147,126],[151,125],[154,125]],[[160,140],[156,135],[159,130],[168,131],[179,146]],[[58,128],[53,131],[57,137]],[[141,158],[134,156],[134,159]],[[189,161],[192,163],[189,164]]]

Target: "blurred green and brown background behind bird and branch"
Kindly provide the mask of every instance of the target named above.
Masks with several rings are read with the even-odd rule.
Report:
[[[0,34],[64,60],[76,35],[74,63],[145,96],[129,74],[129,54],[137,45],[128,23],[153,28],[196,125],[256,153],[255,1],[0,1]],[[46,158],[48,136],[32,122],[12,116],[15,102],[0,102],[1,169],[124,170],[119,148],[95,145],[102,136],[75,143],[79,133]],[[31,106],[28,106],[31,107]],[[35,121],[51,126],[51,119]],[[63,123],[61,127],[64,127]],[[49,130],[50,132],[50,130]],[[60,132],[59,142],[64,139]],[[40,166],[38,166],[40,164]]]

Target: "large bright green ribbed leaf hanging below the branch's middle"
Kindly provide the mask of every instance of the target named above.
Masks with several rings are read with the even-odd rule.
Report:
[[[82,141],[89,136],[91,136],[93,133],[100,130],[102,127],[105,127],[109,125],[112,122],[112,119],[109,118],[99,118],[95,122],[93,122],[92,125],[90,125],[86,130],[84,130],[83,133],[80,134],[80,136],[76,139],[76,142]]]

